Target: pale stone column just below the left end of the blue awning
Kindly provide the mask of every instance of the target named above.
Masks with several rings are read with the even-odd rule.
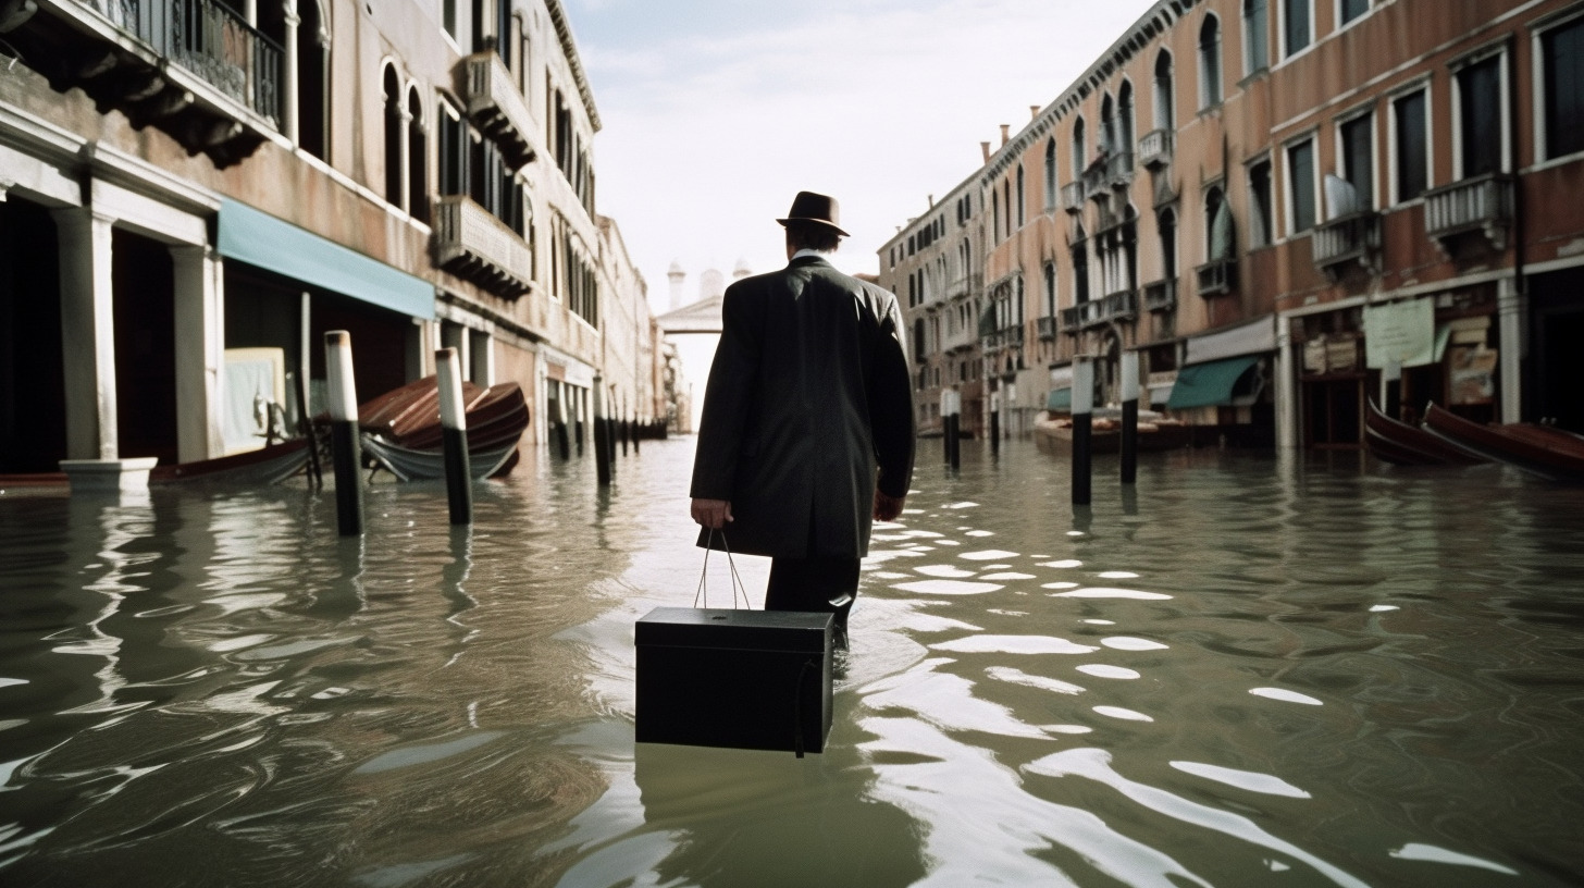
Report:
[[[208,246],[171,247],[176,273],[176,449],[184,463],[225,455],[225,282]]]

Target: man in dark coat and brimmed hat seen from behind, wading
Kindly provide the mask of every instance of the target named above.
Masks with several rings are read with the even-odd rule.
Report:
[[[844,641],[871,520],[900,515],[912,480],[901,311],[830,265],[835,198],[798,192],[776,222],[789,265],[721,306],[692,517],[699,545],[771,558],[767,610],[832,612]]]

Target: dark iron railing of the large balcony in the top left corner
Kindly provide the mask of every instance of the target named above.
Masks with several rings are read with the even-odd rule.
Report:
[[[280,125],[280,44],[215,0],[84,3],[157,54]]]

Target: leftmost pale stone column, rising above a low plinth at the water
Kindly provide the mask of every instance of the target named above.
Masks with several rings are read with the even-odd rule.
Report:
[[[116,430],[114,219],[89,208],[51,211],[60,239],[60,344],[67,355],[67,455],[120,457]]]

